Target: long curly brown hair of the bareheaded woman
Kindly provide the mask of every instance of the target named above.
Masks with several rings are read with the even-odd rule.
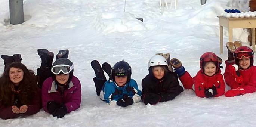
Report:
[[[0,77],[0,102],[4,106],[13,106],[14,93],[12,92],[11,86],[13,85],[9,77],[10,68],[19,68],[24,72],[23,79],[19,83],[19,99],[24,105],[29,105],[31,99],[37,92],[37,77],[34,71],[27,69],[22,63],[12,63],[4,71]]]

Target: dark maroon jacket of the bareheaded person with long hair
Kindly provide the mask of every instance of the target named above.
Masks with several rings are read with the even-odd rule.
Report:
[[[31,104],[27,106],[28,106],[27,112],[21,113],[21,114],[15,114],[12,112],[12,106],[5,107],[0,102],[0,118],[10,119],[10,118],[19,117],[21,115],[33,115],[37,113],[41,108],[41,89],[38,89],[38,92],[36,93],[36,95],[34,95],[34,99],[31,100]]]

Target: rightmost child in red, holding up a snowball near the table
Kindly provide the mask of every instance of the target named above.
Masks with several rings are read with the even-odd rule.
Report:
[[[228,42],[228,60],[224,78],[231,90],[225,93],[227,97],[253,93],[256,91],[256,66],[253,66],[253,50],[247,46],[240,46]],[[232,49],[234,56],[232,56]]]

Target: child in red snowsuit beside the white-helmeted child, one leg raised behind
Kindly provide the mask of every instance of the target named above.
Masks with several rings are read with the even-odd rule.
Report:
[[[223,75],[220,74],[220,64],[222,59],[215,53],[206,52],[200,57],[200,70],[192,78],[185,71],[181,61],[176,58],[171,59],[171,65],[175,68],[181,83],[185,89],[193,89],[199,97],[219,97],[225,93],[225,83]]]

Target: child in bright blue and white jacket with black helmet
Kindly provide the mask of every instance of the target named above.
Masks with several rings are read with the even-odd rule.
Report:
[[[131,79],[132,68],[125,61],[117,62],[111,66],[105,62],[101,65],[98,61],[91,62],[96,77],[93,78],[96,93],[110,105],[126,107],[141,100],[141,91],[135,80]],[[103,70],[110,79],[107,81]]]

